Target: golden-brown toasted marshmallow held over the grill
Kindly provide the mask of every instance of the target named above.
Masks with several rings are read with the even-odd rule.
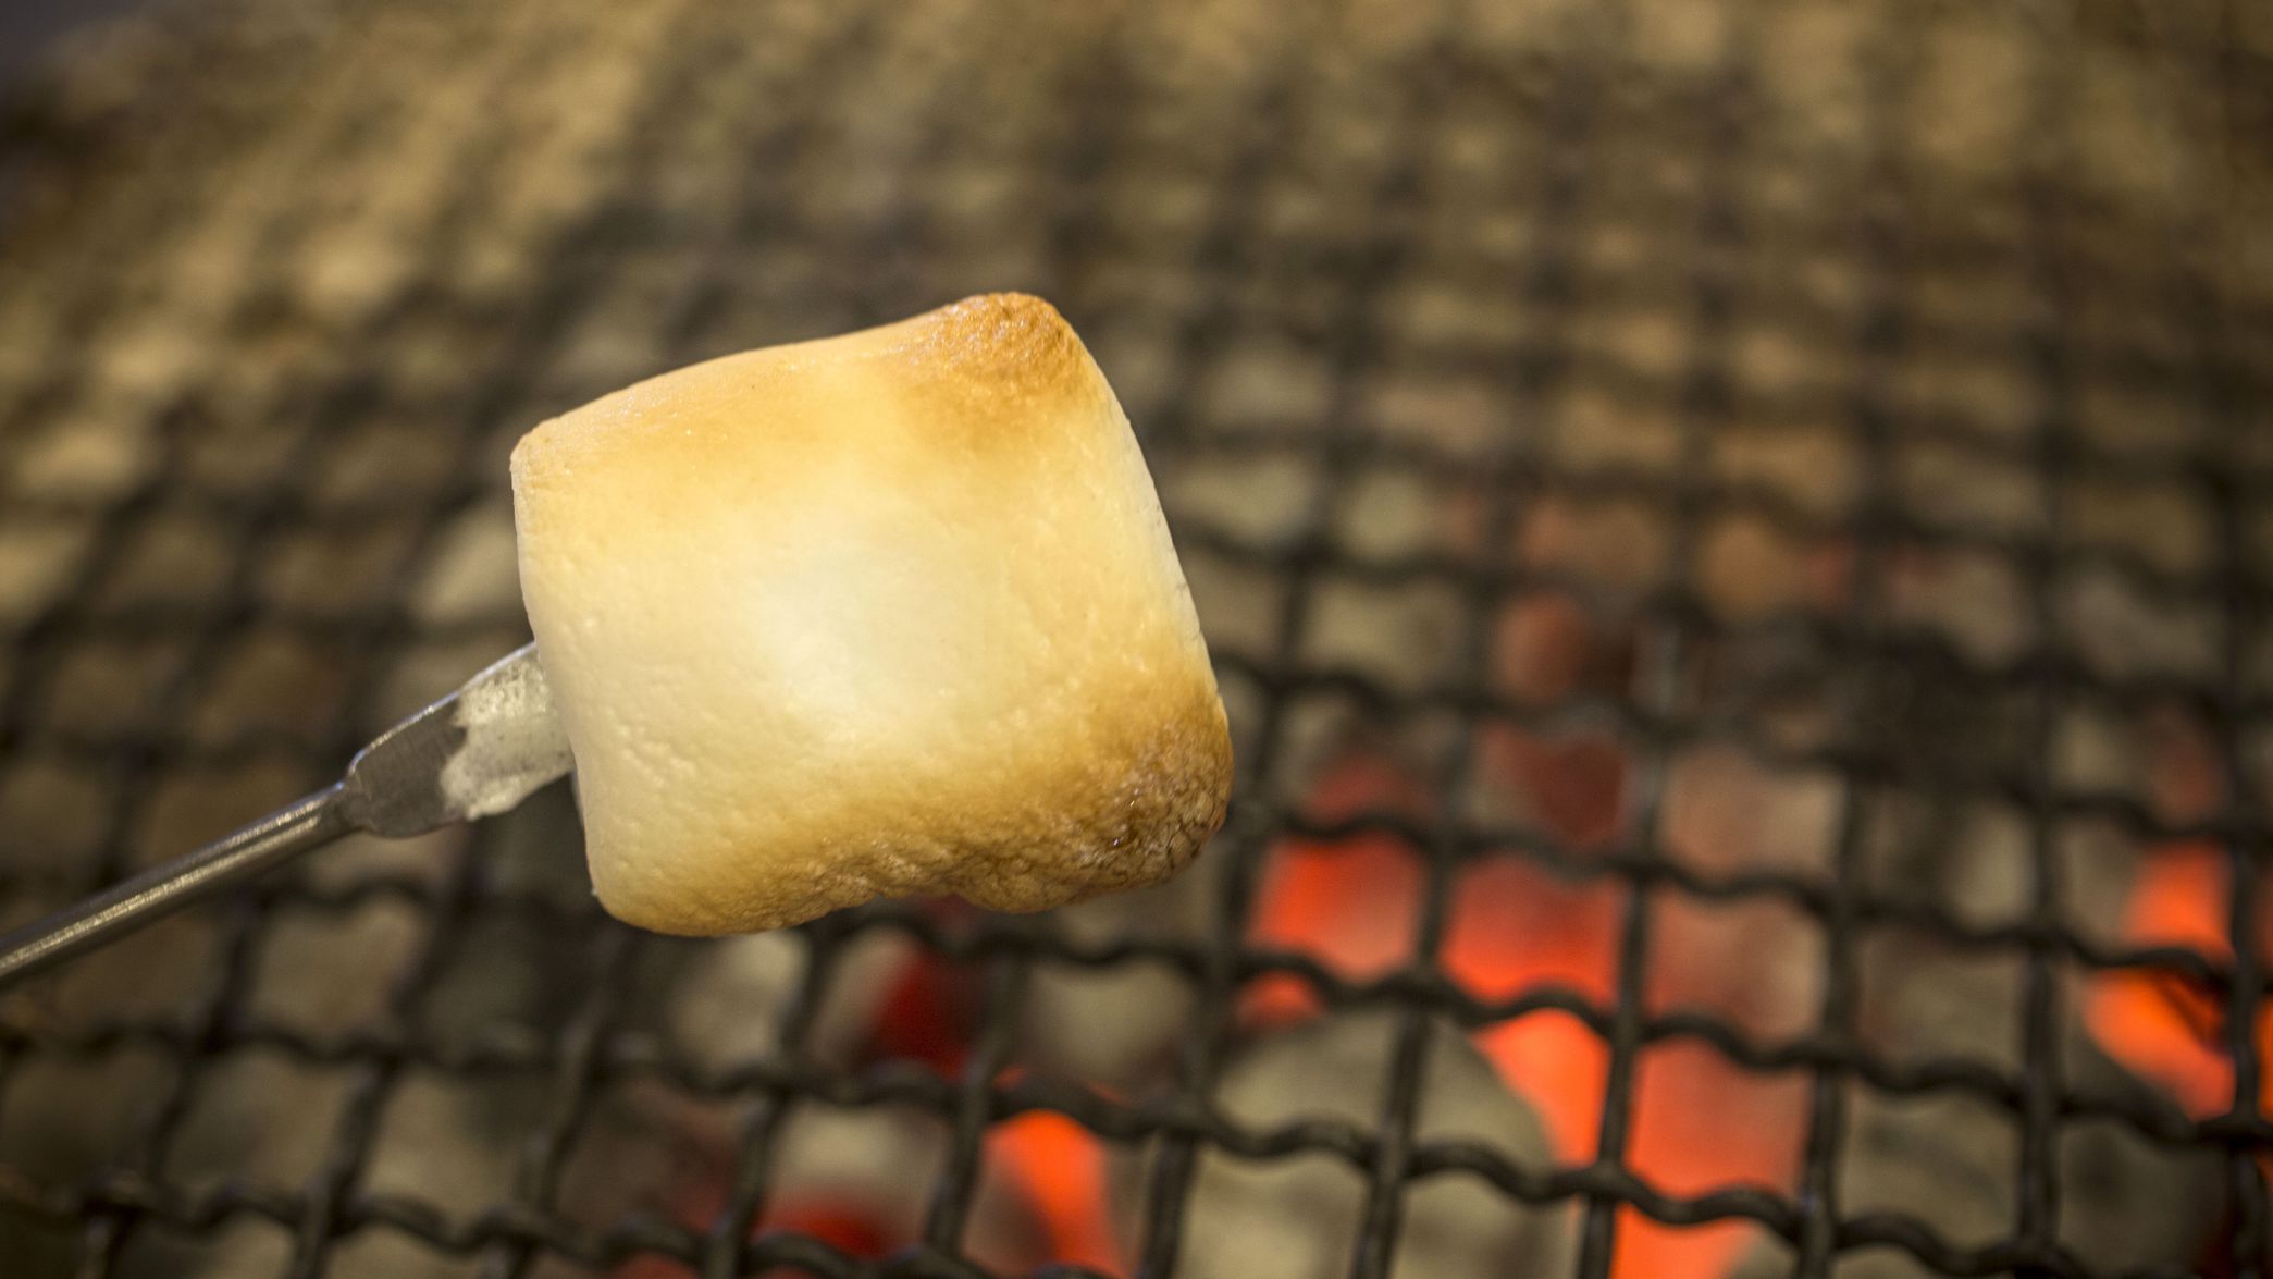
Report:
[[[1232,746],[1111,387],[1039,298],[727,355],[514,448],[600,903],[743,933],[1162,881]]]

